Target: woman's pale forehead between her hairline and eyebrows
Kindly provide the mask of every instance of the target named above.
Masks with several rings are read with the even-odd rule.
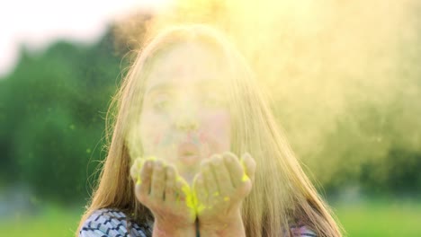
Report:
[[[184,88],[224,86],[227,60],[220,50],[198,42],[184,42],[161,52],[152,62],[147,91],[159,85]]]

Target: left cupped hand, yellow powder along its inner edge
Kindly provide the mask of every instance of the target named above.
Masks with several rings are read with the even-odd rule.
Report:
[[[138,158],[130,168],[130,176],[136,182],[136,198],[155,217],[154,236],[194,236],[193,194],[174,166]]]

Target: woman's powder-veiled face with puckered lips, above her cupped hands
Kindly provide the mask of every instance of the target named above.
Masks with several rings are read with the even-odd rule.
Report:
[[[223,61],[209,47],[179,44],[155,59],[146,83],[140,117],[144,153],[175,164],[189,182],[203,160],[230,150]]]

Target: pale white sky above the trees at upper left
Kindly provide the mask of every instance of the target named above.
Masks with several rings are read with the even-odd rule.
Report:
[[[152,10],[168,0],[5,0],[0,3],[0,76],[19,59],[19,48],[42,50],[66,39],[94,42],[108,22],[135,9]]]

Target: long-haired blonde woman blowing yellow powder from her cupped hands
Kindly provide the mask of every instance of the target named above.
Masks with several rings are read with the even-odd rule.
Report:
[[[109,153],[76,236],[341,236],[219,31],[160,32],[114,99]]]

